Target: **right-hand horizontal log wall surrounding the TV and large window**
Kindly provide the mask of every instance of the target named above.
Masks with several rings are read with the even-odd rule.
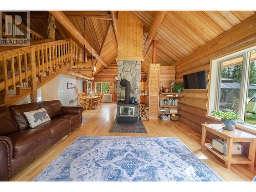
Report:
[[[202,70],[205,70],[207,73],[206,90],[184,91],[183,97],[179,99],[181,122],[187,124],[199,133],[201,133],[202,129],[201,123],[215,122],[206,117],[210,59],[222,57],[254,45],[256,45],[255,14],[175,63],[176,83],[183,82],[183,75],[185,74]],[[244,151],[247,153],[247,144],[245,144],[244,147]]]

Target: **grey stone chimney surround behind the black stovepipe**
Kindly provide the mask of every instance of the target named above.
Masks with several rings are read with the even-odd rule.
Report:
[[[122,79],[126,79],[131,84],[131,97],[134,97],[137,103],[140,103],[140,79],[141,79],[141,61],[118,60],[118,100],[124,99],[125,88],[120,85]]]

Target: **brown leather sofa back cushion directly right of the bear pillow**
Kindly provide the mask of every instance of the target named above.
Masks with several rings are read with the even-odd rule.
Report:
[[[62,115],[62,104],[59,100],[42,101],[39,103],[40,108],[45,108],[51,119]]]

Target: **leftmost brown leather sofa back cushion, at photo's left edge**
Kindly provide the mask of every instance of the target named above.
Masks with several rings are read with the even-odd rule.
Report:
[[[6,136],[19,131],[19,127],[8,107],[0,107],[0,122],[0,135]]]

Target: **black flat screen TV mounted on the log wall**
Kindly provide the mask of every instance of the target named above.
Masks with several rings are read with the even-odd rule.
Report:
[[[184,89],[206,89],[205,71],[183,75]]]

